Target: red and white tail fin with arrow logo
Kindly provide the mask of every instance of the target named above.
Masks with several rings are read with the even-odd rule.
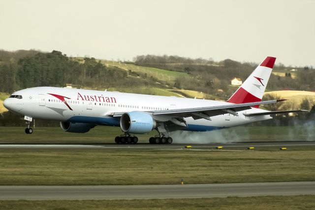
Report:
[[[260,102],[275,61],[276,58],[267,57],[226,102],[233,104]]]

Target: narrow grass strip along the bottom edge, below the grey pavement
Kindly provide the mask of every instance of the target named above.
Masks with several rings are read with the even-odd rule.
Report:
[[[312,210],[314,195],[163,200],[0,201],[3,210]]]

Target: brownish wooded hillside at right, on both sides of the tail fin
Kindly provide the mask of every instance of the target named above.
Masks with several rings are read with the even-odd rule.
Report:
[[[215,62],[212,59],[190,59],[179,56],[156,56],[141,55],[134,59],[135,65],[161,68],[172,71],[185,71],[195,78],[178,78],[175,87],[190,89],[203,92],[221,89],[230,96],[233,89],[230,89],[230,80],[234,77],[241,78],[244,81],[252,70],[258,65],[255,63],[240,63],[230,59]],[[290,71],[294,70],[294,71]],[[285,76],[272,74],[270,76],[268,90],[304,90],[315,91],[315,70],[313,67],[285,67],[284,65],[275,65],[274,72],[283,72]],[[296,74],[292,77],[291,74]]]

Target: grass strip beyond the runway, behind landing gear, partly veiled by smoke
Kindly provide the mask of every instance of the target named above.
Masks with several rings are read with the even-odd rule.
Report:
[[[58,125],[58,122],[56,122]],[[78,142],[114,142],[114,138],[122,134],[120,127],[96,126],[88,133],[68,133],[60,127],[35,127],[32,135],[26,135],[24,127],[0,127],[0,140],[3,142],[49,142],[49,143],[78,143]],[[137,135],[139,142],[148,142],[150,134]],[[314,124],[301,126],[246,126],[222,129],[211,132],[176,132],[171,133],[174,142],[181,143],[211,143],[226,141],[250,140],[315,140]],[[187,137],[187,138],[186,138]],[[189,138],[188,138],[189,137]],[[184,140],[182,140],[184,138]],[[181,140],[181,141],[180,141]]]

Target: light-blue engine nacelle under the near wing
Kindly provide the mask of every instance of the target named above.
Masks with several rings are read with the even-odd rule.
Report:
[[[131,111],[122,115],[120,127],[127,133],[146,134],[157,127],[157,123],[149,113]]]

